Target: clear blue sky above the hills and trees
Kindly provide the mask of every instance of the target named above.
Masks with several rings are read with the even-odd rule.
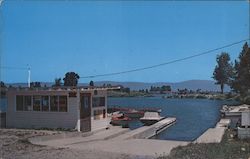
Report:
[[[249,38],[249,2],[5,1],[1,66],[31,66],[32,81],[53,82],[130,70]],[[141,82],[211,80],[216,54],[237,58],[242,44],[129,74],[81,79]],[[26,82],[26,70],[1,69],[1,80]]]

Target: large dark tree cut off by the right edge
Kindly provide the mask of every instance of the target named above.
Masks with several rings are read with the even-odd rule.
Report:
[[[247,43],[243,46],[239,61],[235,60],[231,87],[241,95],[246,95],[250,91],[250,49]]]

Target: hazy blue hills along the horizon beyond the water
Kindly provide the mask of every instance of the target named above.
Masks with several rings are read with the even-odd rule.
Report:
[[[42,85],[46,85],[47,87],[52,86],[52,82],[42,82]],[[151,86],[160,87],[162,85],[170,85],[172,90],[177,89],[189,89],[189,90],[197,90],[201,89],[203,91],[220,91],[220,86],[215,84],[215,81],[212,80],[188,80],[183,82],[155,82],[155,83],[145,83],[145,82],[116,82],[116,81],[94,81],[95,86],[102,86],[103,84],[111,84],[111,85],[122,85],[124,87],[129,87],[131,90],[139,90],[139,89],[150,89]],[[10,83],[7,85],[12,85],[15,87],[23,86],[26,87],[27,83]],[[79,83],[80,86],[87,86],[88,83]],[[230,91],[229,86],[225,86],[225,92]]]

